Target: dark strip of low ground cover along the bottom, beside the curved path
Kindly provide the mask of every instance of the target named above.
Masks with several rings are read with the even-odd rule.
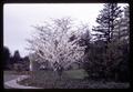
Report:
[[[129,83],[116,83],[116,82],[98,82],[98,81],[85,81],[85,80],[62,80],[57,81],[57,83],[47,82],[34,82],[31,79],[25,79],[20,82],[20,84],[38,86],[43,89],[129,89]]]

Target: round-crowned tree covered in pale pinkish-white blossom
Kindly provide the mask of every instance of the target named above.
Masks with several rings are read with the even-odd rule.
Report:
[[[84,47],[79,45],[79,40],[83,30],[72,27],[70,18],[52,20],[43,25],[35,25],[37,35],[28,40],[29,50],[34,51],[41,61],[48,61],[54,71],[61,75],[62,70],[73,62],[82,61]],[[74,39],[70,41],[70,38]]]

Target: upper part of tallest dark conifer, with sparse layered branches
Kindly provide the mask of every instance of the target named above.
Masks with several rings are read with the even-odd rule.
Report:
[[[121,7],[117,3],[105,3],[103,10],[100,11],[96,22],[100,24],[93,27],[93,31],[96,32],[96,39],[111,42],[113,39],[113,31],[115,27],[115,21],[122,16]]]

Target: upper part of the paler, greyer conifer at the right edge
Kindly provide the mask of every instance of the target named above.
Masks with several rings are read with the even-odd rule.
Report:
[[[130,12],[129,6],[124,7],[124,16],[117,20],[115,30],[115,40],[119,41],[126,41],[129,43],[129,35],[130,35]]]

